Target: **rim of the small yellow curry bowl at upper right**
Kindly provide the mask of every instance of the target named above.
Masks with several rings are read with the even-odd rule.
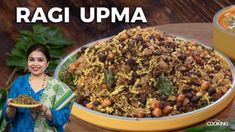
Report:
[[[235,5],[231,5],[231,6],[228,6],[228,7],[225,7],[225,8],[222,8],[221,10],[219,10],[215,16],[213,17],[213,24],[214,26],[216,26],[220,31],[226,33],[226,34],[229,34],[229,35],[234,35],[235,36],[235,32],[229,32],[227,30],[225,30],[223,27],[221,27],[221,25],[219,24],[218,22],[218,18],[219,16],[226,10],[230,9],[230,8],[234,8],[234,11],[235,11]]]

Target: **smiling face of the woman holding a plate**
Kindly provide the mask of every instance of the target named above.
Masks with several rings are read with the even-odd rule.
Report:
[[[45,73],[49,62],[41,51],[33,51],[28,57],[28,69],[31,74],[39,76]]]

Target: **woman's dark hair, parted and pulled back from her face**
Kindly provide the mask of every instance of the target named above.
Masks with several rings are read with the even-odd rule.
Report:
[[[50,59],[51,59],[50,52],[45,45],[43,45],[43,44],[31,45],[27,50],[27,58],[29,57],[29,54],[32,53],[33,51],[42,52],[46,56],[47,61],[50,61]]]

